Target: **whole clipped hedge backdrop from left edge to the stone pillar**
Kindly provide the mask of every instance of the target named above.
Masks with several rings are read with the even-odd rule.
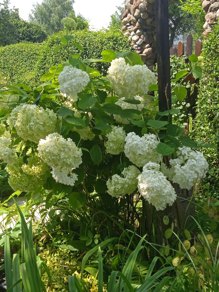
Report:
[[[0,47],[0,72],[4,77],[9,77],[9,82],[26,83],[34,87],[41,81],[43,74],[48,72],[53,65],[66,62],[68,60],[67,47],[61,48],[54,55],[55,47],[61,44],[61,37],[65,32],[61,31],[48,37],[44,44],[20,43],[5,47]],[[74,31],[74,39],[69,42],[71,54],[79,53],[80,59],[102,58],[101,52],[105,49],[124,52],[133,51],[127,37],[121,32],[92,32]],[[72,42],[77,42],[83,46],[84,51],[80,51]],[[88,63],[90,67],[96,68],[101,74],[106,75],[108,65],[106,63]]]

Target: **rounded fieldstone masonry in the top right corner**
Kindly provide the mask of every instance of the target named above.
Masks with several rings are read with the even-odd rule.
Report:
[[[219,0],[201,0],[202,7],[207,13],[205,15],[205,24],[203,36],[206,37],[212,29],[212,24],[218,21],[219,18]]]

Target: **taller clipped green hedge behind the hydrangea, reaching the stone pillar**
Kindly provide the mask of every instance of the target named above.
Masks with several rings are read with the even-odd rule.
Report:
[[[61,44],[61,37],[64,32],[58,32],[49,36],[44,42],[42,48],[41,59],[36,66],[36,76],[39,80],[40,76],[48,72],[48,69],[53,65],[66,62],[68,59],[67,47],[61,48],[57,54],[54,54],[55,47]],[[102,58],[100,53],[105,49],[112,49],[114,51],[125,52],[133,51],[131,44],[121,32],[93,32],[86,30],[74,31],[72,33],[74,38],[69,42],[69,51],[71,54],[79,53],[79,59],[93,59]],[[79,51],[72,42],[79,43],[84,51]],[[97,69],[101,74],[106,75],[109,64],[104,63],[88,63],[90,67]]]

